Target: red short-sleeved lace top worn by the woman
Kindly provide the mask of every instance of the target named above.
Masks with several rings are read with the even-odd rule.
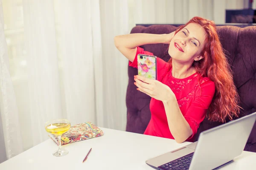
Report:
[[[144,51],[143,48],[137,47],[136,57],[133,62],[129,62],[129,66],[137,68],[138,54],[153,55],[148,51]],[[203,77],[198,82],[197,76],[198,74],[195,73],[184,79],[172,77],[172,68],[170,68],[169,63],[157,58],[157,80],[168,85],[174,92],[180,111],[193,132],[192,136],[186,140],[189,142],[193,142],[194,135],[200,123],[204,120],[215,93],[214,82],[209,80],[208,77]],[[151,98],[150,111],[151,120],[144,134],[174,139],[169,130],[163,102]]]

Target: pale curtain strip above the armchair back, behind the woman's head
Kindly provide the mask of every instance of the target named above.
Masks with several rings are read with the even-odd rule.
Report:
[[[199,16],[225,23],[226,9],[243,9],[249,0],[128,0],[129,28],[135,24],[183,24]],[[253,3],[256,9],[256,2]]]

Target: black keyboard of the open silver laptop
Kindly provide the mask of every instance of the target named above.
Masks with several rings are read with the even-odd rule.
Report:
[[[158,167],[158,170],[188,170],[194,153],[175,159]]]

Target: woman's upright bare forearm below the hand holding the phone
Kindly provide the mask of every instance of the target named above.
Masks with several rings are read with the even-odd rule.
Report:
[[[163,102],[169,130],[177,143],[182,143],[192,135],[189,123],[182,115],[175,96],[173,99]]]

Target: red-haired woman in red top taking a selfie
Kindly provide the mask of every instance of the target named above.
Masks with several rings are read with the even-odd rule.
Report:
[[[205,116],[225,122],[239,114],[238,94],[213,21],[193,17],[170,34],[128,34],[116,48],[137,68],[140,45],[168,43],[171,59],[157,58],[157,80],[134,76],[137,90],[151,96],[144,134],[192,142]]]

